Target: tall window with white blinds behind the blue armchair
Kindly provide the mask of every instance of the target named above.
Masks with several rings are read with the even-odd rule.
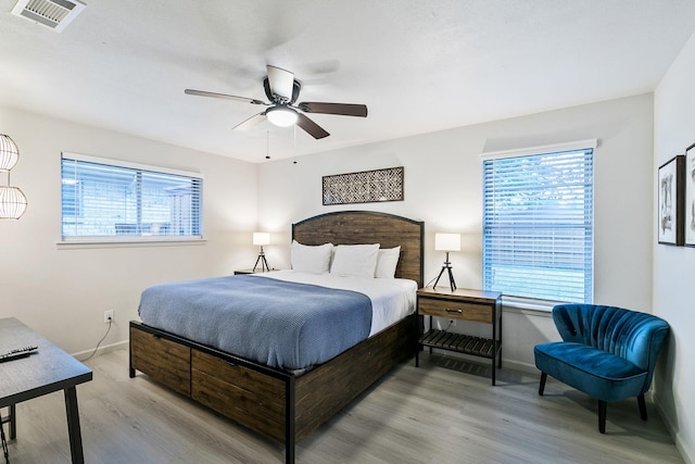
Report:
[[[486,290],[592,302],[595,140],[574,145],[483,154]]]

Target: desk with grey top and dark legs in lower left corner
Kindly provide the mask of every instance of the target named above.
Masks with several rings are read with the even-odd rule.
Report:
[[[10,407],[10,439],[16,438],[15,404],[63,390],[73,463],[84,463],[75,386],[91,380],[91,369],[14,317],[0,318],[0,353],[39,347],[28,358],[0,363],[0,407]]]

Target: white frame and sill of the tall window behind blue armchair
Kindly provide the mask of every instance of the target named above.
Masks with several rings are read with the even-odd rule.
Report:
[[[484,152],[481,154],[481,159],[483,161],[483,164],[485,161],[489,160],[500,160],[500,159],[509,159],[509,158],[520,158],[520,156],[531,156],[531,155],[547,155],[547,154],[552,154],[552,153],[559,153],[559,152],[572,152],[572,151],[586,151],[586,150],[592,150],[593,155],[595,156],[595,152],[596,152],[596,147],[597,147],[597,140],[596,139],[589,139],[589,140],[579,140],[579,141],[572,141],[572,142],[567,142],[567,143],[556,143],[556,145],[547,145],[547,146],[539,146],[539,147],[529,147],[529,148],[522,148],[522,149],[515,149],[515,150],[505,150],[505,151],[495,151],[495,152]],[[483,176],[485,175],[484,173],[484,167],[483,167]],[[593,186],[594,186],[595,179],[593,178],[593,174],[592,174],[592,192],[591,192],[591,197],[592,197],[592,202],[593,200]],[[490,278],[488,276],[488,272],[490,272],[490,267],[489,267],[489,263],[485,262],[485,260],[490,259],[489,256],[486,256],[486,247],[485,247],[485,240],[486,240],[486,224],[485,224],[485,180],[483,178],[483,288],[485,289],[494,289],[497,291],[503,291],[504,293],[504,289],[496,289],[496,288],[490,288]],[[594,217],[593,217],[593,208],[592,208],[592,217],[591,217],[591,234],[592,234],[592,238],[591,238],[591,251],[590,251],[590,256],[587,256],[591,260],[591,269],[589,269],[590,274],[591,274],[591,281],[589,283],[589,285],[591,286],[590,289],[590,296],[587,298],[587,300],[593,301],[593,290],[594,290],[594,269],[593,269],[593,265],[594,265],[594,228],[595,228],[595,224],[594,224]],[[591,302],[591,301],[586,301],[586,302]],[[529,297],[529,296],[506,296],[504,297],[504,304],[507,305],[509,304],[510,306],[516,306],[516,308],[520,308],[520,309],[534,309],[534,310],[548,310],[551,309],[554,304],[556,304],[558,301],[554,301],[554,300],[547,300],[547,299],[542,299],[542,298],[536,298],[536,297]]]

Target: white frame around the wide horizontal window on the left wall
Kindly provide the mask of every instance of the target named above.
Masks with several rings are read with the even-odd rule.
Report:
[[[200,216],[199,235],[94,235],[94,236],[63,236],[63,160],[75,160],[77,162],[104,164],[115,167],[130,168],[140,172],[150,172],[157,174],[170,174],[176,176],[184,176],[189,178],[200,179],[199,190],[199,210]],[[59,248],[77,247],[77,248],[93,248],[93,247],[119,247],[119,246],[156,246],[156,244],[200,244],[205,242],[203,238],[203,178],[204,176],[199,172],[176,170],[172,167],[155,166],[142,163],[134,163],[128,161],[115,160],[110,158],[93,156],[83,153],[62,152],[61,153],[61,238],[58,241]],[[78,208],[76,205],[76,208]]]

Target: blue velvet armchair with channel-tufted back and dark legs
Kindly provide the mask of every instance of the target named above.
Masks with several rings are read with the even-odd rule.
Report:
[[[669,325],[652,314],[615,306],[559,304],[553,322],[563,337],[535,346],[539,394],[552,376],[598,400],[598,431],[606,432],[607,403],[636,397],[647,419],[644,393]]]

